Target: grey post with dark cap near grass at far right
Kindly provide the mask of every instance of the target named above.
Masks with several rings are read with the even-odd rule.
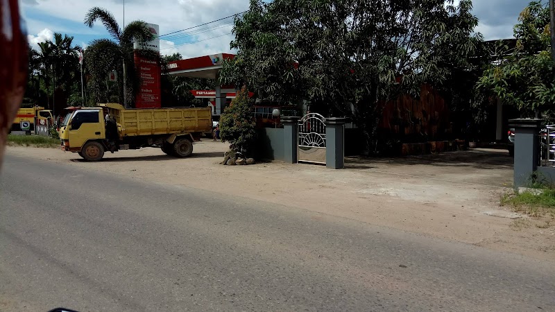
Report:
[[[540,144],[538,132],[541,119],[511,119],[509,127],[515,128],[514,187],[526,187],[532,173],[537,170]]]

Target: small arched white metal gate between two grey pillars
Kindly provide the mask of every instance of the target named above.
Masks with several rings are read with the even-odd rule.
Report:
[[[298,162],[325,164],[325,118],[309,113],[298,123]]]

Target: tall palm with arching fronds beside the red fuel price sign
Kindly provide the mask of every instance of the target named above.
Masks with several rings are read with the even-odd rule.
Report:
[[[123,82],[120,83],[120,94],[123,97],[123,105],[129,107],[128,98],[134,98],[138,85],[138,76],[135,75],[134,70],[133,43],[152,40],[153,34],[144,21],[132,21],[121,29],[114,15],[103,8],[94,7],[87,12],[85,24],[92,28],[95,21],[102,22],[108,33],[112,35],[112,40],[99,39],[91,42],[87,49],[91,51],[87,53],[87,56],[93,57],[94,63],[98,60],[101,64],[88,62],[89,70],[93,78],[97,80],[96,85],[101,85],[99,82],[102,79],[105,80],[108,72],[113,69],[121,73]],[[157,56],[159,57],[159,53],[157,53]],[[108,60],[102,60],[103,58]],[[119,64],[121,64],[121,67],[119,67]],[[107,87],[106,89],[109,88]]]

